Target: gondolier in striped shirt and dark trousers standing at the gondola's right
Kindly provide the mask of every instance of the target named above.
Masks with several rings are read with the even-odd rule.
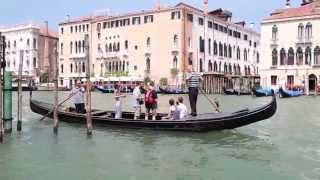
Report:
[[[189,88],[189,101],[191,107],[191,116],[197,116],[197,100],[199,94],[200,83],[202,77],[200,73],[194,71],[194,69],[189,69],[187,74],[187,86]]]

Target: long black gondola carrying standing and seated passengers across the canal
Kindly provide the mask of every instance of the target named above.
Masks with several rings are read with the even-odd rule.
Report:
[[[30,108],[34,113],[48,115],[53,105],[36,101],[30,98]],[[157,120],[144,120],[144,114],[140,120],[133,120],[133,112],[123,112],[122,119],[115,119],[112,111],[92,110],[94,125],[117,126],[121,128],[138,128],[168,131],[208,132],[225,129],[235,129],[272,117],[277,110],[276,97],[272,101],[259,108],[243,109],[231,113],[207,113],[197,117],[186,117],[183,120],[165,120],[166,114],[158,114]],[[52,118],[52,113],[48,117]],[[77,114],[74,108],[59,107],[58,117],[60,121],[68,123],[85,123],[86,115]]]

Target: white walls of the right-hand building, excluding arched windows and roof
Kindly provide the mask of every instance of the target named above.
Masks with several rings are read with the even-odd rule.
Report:
[[[306,25],[312,24],[312,37],[310,40],[306,40]],[[304,26],[303,37],[298,38],[298,27],[302,24]],[[276,26],[278,28],[278,36],[276,40],[272,39],[272,28]],[[294,77],[294,85],[303,86],[306,92],[309,92],[309,76],[315,75],[320,77],[320,68],[314,61],[314,49],[320,46],[320,36],[318,32],[320,30],[320,18],[296,18],[291,20],[282,21],[267,21],[262,24],[261,27],[261,48],[262,48],[262,64],[261,64],[261,83],[263,87],[278,88],[280,86],[288,85],[288,76]],[[289,48],[294,49],[294,65],[280,64],[280,51],[285,49],[288,55]],[[297,64],[297,50],[301,48],[303,51],[303,64]],[[306,64],[306,48],[311,48],[311,59]],[[276,65],[272,64],[272,51],[276,49],[278,51],[278,62]],[[285,58],[288,60],[288,57]],[[309,61],[309,60],[308,60]],[[271,83],[271,76],[276,76],[276,83]],[[319,81],[317,80],[317,84]]]

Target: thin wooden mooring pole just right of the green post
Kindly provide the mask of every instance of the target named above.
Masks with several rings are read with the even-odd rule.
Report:
[[[20,61],[19,61],[19,73],[18,73],[18,122],[17,131],[22,130],[22,68],[23,68],[23,54],[24,51],[20,50]]]

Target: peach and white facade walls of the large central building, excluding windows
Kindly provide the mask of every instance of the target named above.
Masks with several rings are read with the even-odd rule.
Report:
[[[172,19],[172,13],[180,13]],[[187,19],[187,14],[193,14],[193,22]],[[153,16],[153,22],[144,23],[145,16]],[[140,17],[141,23],[133,25],[133,18]],[[198,18],[204,18],[204,24],[199,25]],[[130,25],[111,27],[111,24],[123,19],[130,19]],[[214,30],[213,27],[208,27],[208,22],[217,23],[224,27],[241,33],[241,38],[235,38],[228,33]],[[81,33],[70,33],[70,28],[88,24],[89,30]],[[114,24],[115,25],[115,24]],[[259,54],[259,39],[260,35],[250,28],[233,24],[230,21],[224,21],[211,15],[205,14],[190,6],[176,6],[173,8],[143,11],[140,13],[132,13],[119,16],[92,17],[86,20],[66,21],[60,24],[60,31],[64,29],[64,33],[60,32],[59,46],[59,66],[60,66],[60,84],[71,85],[75,79],[85,77],[85,73],[71,72],[70,64],[84,63],[84,53],[70,54],[70,42],[82,41],[85,34],[90,36],[90,58],[91,68],[94,72],[92,77],[110,77],[118,75],[128,75],[140,77],[150,77],[156,83],[161,78],[167,78],[171,85],[181,85],[184,83],[184,75],[189,66],[189,60],[192,59],[193,68],[200,71],[200,59],[202,60],[203,73],[225,73],[234,74],[233,72],[225,72],[224,64],[230,66],[239,66],[242,75],[257,75],[257,56]],[[244,40],[244,34],[248,36]],[[205,52],[200,52],[199,38],[202,37],[205,41]],[[147,44],[150,38],[150,45]],[[209,52],[209,39],[211,39]],[[232,57],[215,55],[213,53],[213,42],[221,42],[230,45],[232,48]],[[128,47],[125,48],[125,42],[128,42]],[[251,45],[249,45],[251,41]],[[115,44],[120,46],[119,50],[106,50],[106,45]],[[256,47],[254,47],[254,43]],[[61,44],[63,44],[64,52],[61,53]],[[236,58],[236,49],[240,48],[241,57]],[[219,47],[218,47],[219,48]],[[248,58],[244,60],[243,51],[248,49]],[[250,50],[249,50],[250,49]],[[219,50],[218,50],[219,51]],[[175,58],[176,57],[176,58]],[[147,69],[147,59],[150,60],[150,72]],[[125,69],[118,68],[116,64],[125,64]],[[209,68],[209,62],[212,68]],[[221,62],[220,71],[218,68],[213,69],[213,64],[217,66]],[[110,65],[111,64],[111,65]],[[61,72],[63,66],[63,72]],[[110,68],[109,67],[113,67]],[[250,74],[245,74],[245,67],[251,69]],[[174,74],[178,71],[178,74]],[[214,72],[215,71],[215,72]],[[70,84],[71,80],[71,84]]]

